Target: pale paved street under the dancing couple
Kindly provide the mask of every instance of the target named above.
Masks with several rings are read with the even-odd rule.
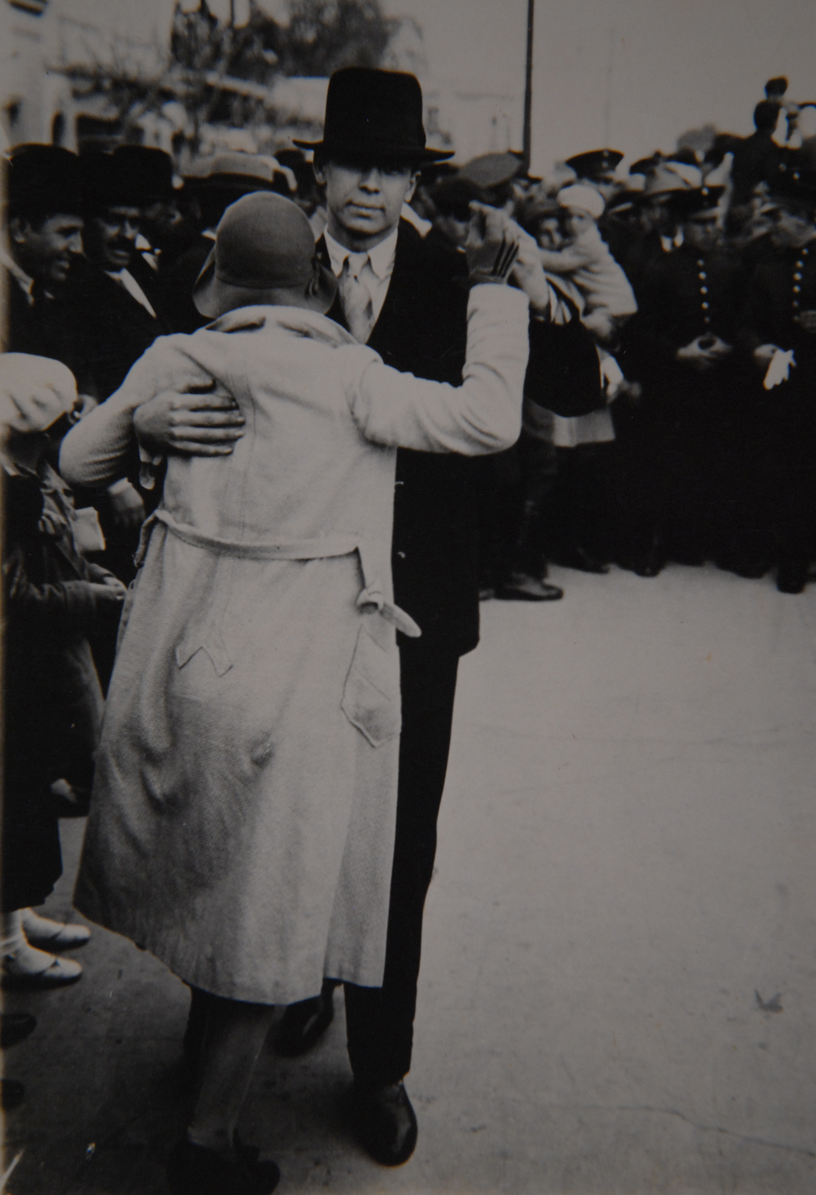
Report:
[[[554,570],[483,606],[462,662],[425,919],[415,1157],[345,1121],[321,1048],[266,1053],[241,1132],[280,1190],[816,1190],[816,583]],[[63,821],[67,914],[82,823]],[[186,989],[94,930],[73,988],[14,994],[12,1195],[159,1195],[184,1121]]]

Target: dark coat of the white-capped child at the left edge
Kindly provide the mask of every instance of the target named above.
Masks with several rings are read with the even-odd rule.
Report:
[[[97,620],[67,486],[49,467],[2,472],[5,711],[2,907],[38,905],[62,871],[53,780],[90,786],[102,692],[86,639]]]

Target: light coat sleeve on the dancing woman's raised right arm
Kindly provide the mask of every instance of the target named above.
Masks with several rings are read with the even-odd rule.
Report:
[[[395,448],[468,456],[509,448],[521,431],[528,321],[521,290],[474,287],[461,386],[400,373],[370,350],[338,349],[357,427],[368,440]],[[361,360],[362,351],[368,355]]]

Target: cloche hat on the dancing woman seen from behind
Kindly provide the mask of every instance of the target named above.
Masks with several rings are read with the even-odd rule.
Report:
[[[337,280],[317,259],[308,220],[292,200],[258,191],[223,213],[192,299],[201,314],[211,318],[226,307],[268,302],[270,290],[306,287],[312,277],[326,312]]]

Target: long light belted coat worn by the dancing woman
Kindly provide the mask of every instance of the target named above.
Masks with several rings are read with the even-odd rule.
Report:
[[[245,307],[161,338],[66,437],[110,480],[134,409],[215,379],[229,456],[167,462],[108,695],[75,905],[217,995],[290,1004],[382,981],[400,730],[395,449],[520,430],[527,301],[470,298],[464,385],[382,364],[327,318]]]

